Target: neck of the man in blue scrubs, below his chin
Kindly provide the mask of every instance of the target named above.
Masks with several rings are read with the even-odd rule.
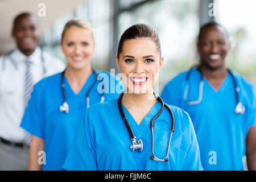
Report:
[[[207,78],[207,80],[219,80],[224,79],[228,74],[228,70],[225,66],[220,67],[218,69],[209,69],[204,65],[200,65],[199,70],[203,77]]]

